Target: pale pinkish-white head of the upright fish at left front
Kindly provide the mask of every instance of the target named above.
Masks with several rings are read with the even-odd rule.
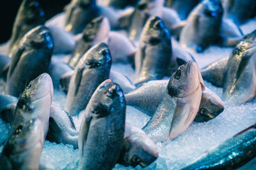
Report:
[[[53,85],[51,76],[47,73],[40,74],[35,80],[30,81],[19,98],[16,109],[24,113],[33,113],[38,104],[52,101]],[[50,106],[51,107],[51,104]]]

